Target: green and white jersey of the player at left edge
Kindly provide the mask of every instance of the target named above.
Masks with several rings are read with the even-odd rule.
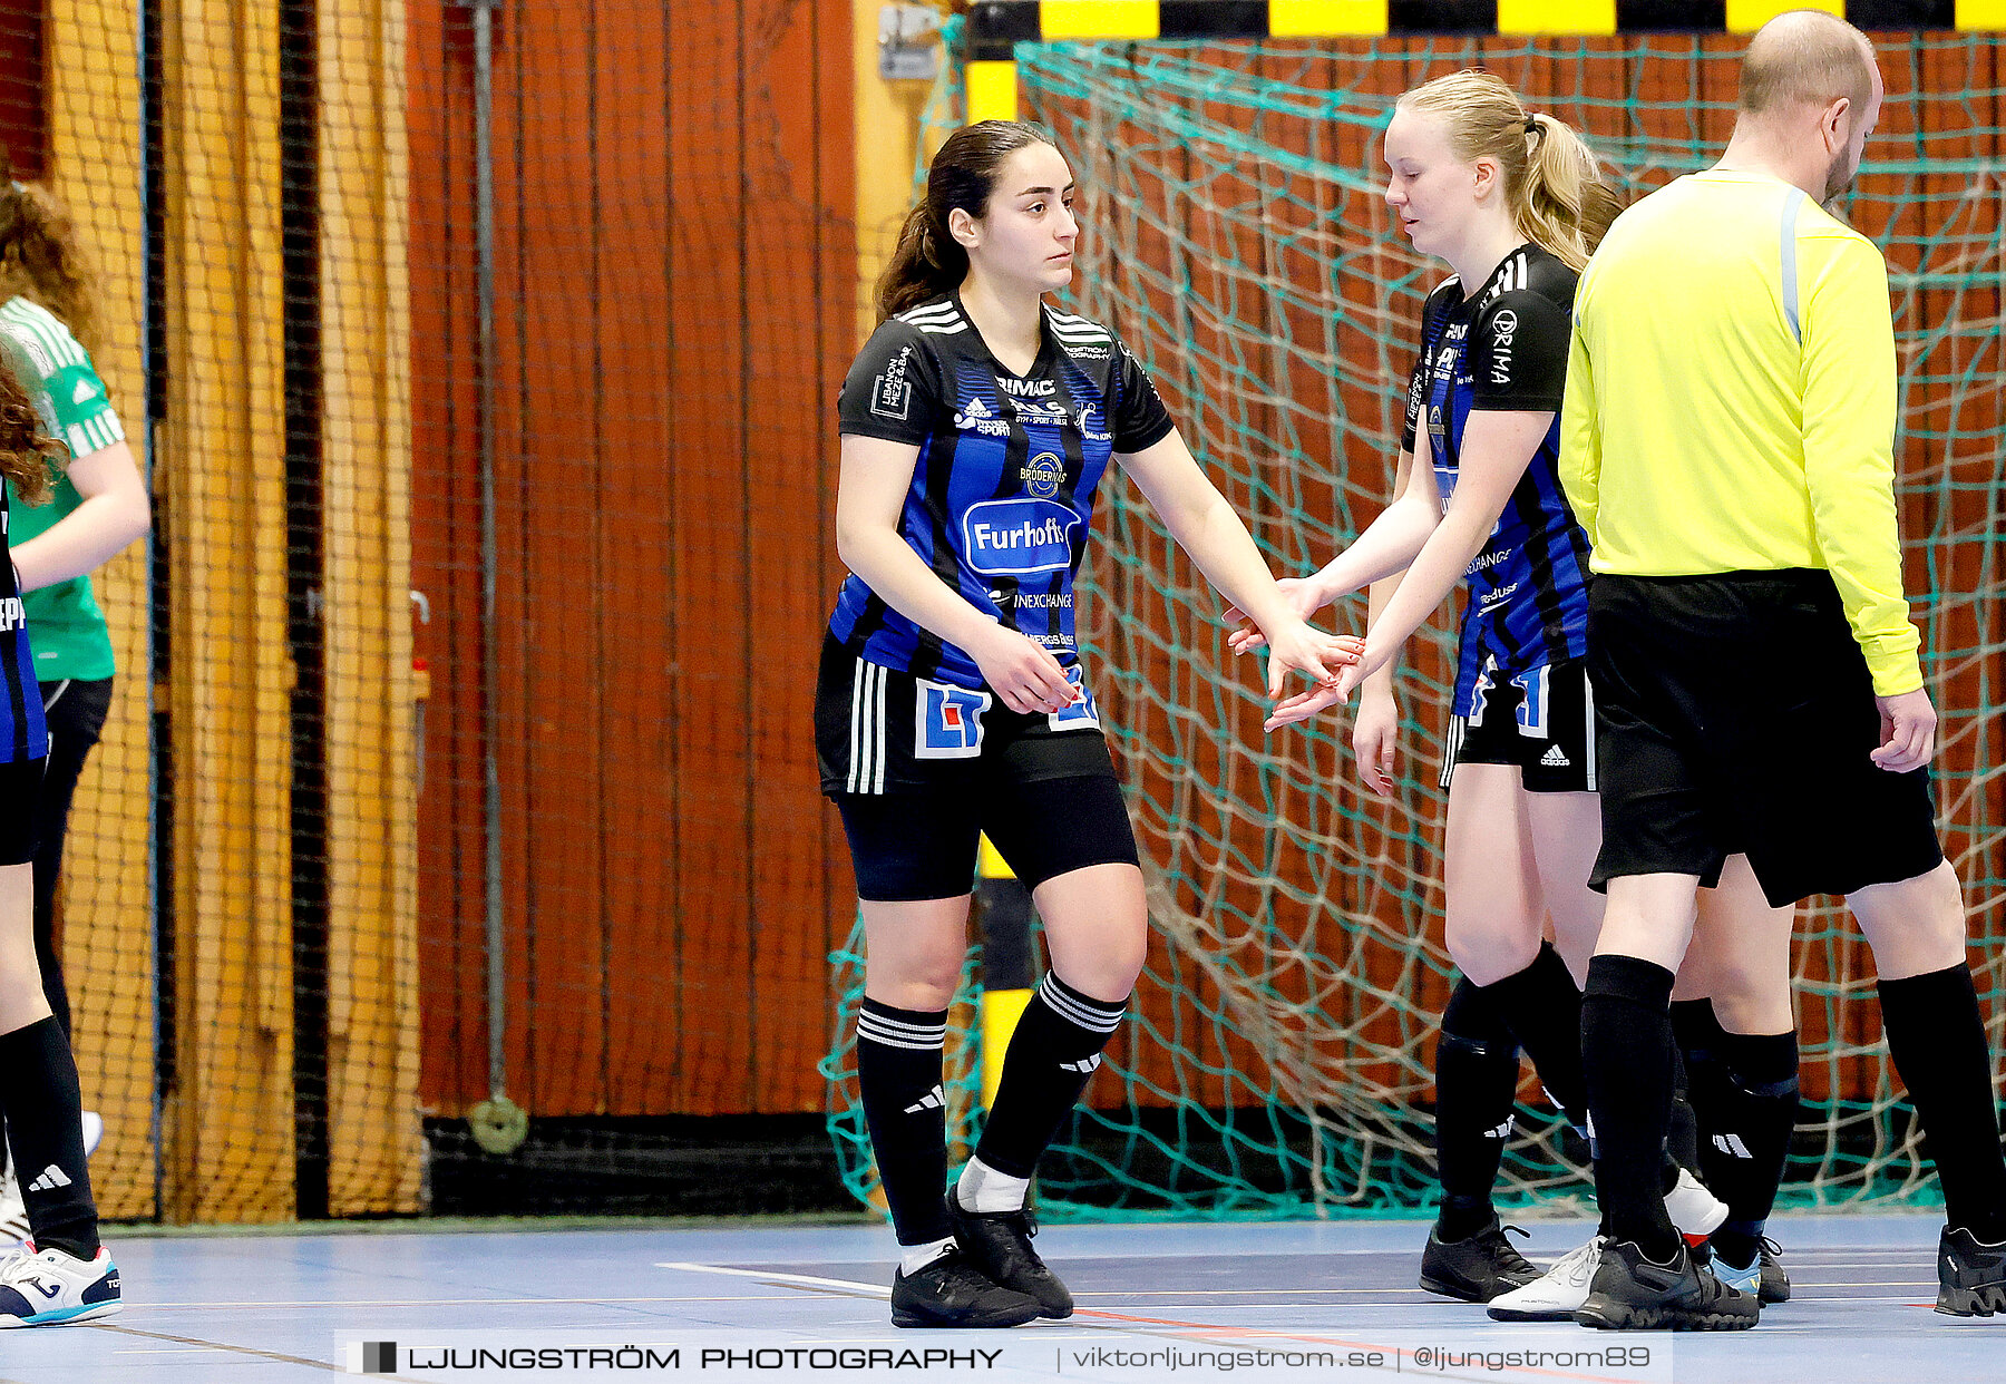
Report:
[[[0,305],[0,335],[6,337],[8,359],[34,399],[42,427],[68,443],[72,457],[88,457],[124,441],[124,427],[90,355],[52,313],[22,297],[8,299]],[[46,505],[24,505],[8,487],[8,540],[24,544],[80,503],[84,497],[68,475],[56,481],[56,493]],[[112,640],[104,628],[104,612],[90,594],[88,576],[44,586],[22,600],[28,608],[36,680],[112,676]]]

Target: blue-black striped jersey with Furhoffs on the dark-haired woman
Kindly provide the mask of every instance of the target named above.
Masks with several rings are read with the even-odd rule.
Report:
[[[1093,526],[1093,491],[1115,451],[1174,423],[1127,347],[1099,323],[1043,309],[1023,375],[989,353],[959,295],[871,333],[843,381],[841,431],[919,447],[899,532],[977,610],[1079,664],[1073,580]],[[981,688],[963,650],[851,576],[830,634],[867,662]]]

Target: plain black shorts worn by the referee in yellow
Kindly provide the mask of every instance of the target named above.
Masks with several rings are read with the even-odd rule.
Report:
[[[1597,576],[1589,586],[1603,850],[1623,875],[1719,883],[1745,852],[1771,905],[1944,858],[1928,766],[1878,768],[1880,708],[1827,572]]]

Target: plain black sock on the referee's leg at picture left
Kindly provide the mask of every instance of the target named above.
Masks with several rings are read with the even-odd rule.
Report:
[[[1595,957],[1581,995],[1595,1197],[1609,1234],[1661,1264],[1679,1250],[1659,1183],[1671,1119],[1671,981],[1651,961]]]

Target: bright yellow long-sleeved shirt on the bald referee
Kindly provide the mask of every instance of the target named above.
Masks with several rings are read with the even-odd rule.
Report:
[[[1894,509],[1888,267],[1801,189],[1695,172],[1575,291],[1561,483],[1595,572],[1831,572],[1880,696],[1922,686]]]

